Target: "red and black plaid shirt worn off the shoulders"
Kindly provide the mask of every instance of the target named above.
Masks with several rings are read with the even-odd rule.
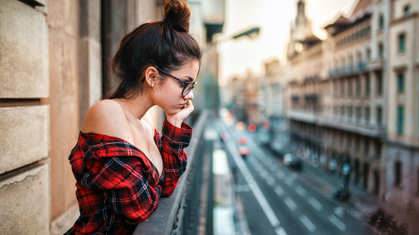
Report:
[[[145,154],[120,138],[80,132],[70,164],[77,180],[80,217],[65,235],[129,235],[157,209],[158,199],[169,196],[186,170],[184,148],[192,128],[164,120],[154,141],[163,158],[158,171]]]

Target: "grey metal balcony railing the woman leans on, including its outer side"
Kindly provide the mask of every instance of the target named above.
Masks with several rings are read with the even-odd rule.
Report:
[[[188,193],[194,193],[191,189],[193,185],[193,176],[197,176],[195,162],[197,157],[201,156],[198,151],[202,144],[202,133],[204,132],[207,123],[209,112],[204,110],[195,121],[193,128],[191,143],[185,149],[188,155],[188,166],[186,171],[179,179],[178,185],[170,197],[160,197],[158,208],[153,214],[148,217],[146,221],[140,222],[137,225],[133,235],[171,235],[171,234],[187,234],[185,232],[187,218],[191,209],[189,200],[196,197],[196,194],[189,196]]]

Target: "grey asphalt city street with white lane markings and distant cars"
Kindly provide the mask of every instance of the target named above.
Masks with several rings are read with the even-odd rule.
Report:
[[[321,170],[305,164],[303,171],[291,171],[268,149],[258,146],[255,133],[237,133],[234,125],[219,124],[219,131],[228,133],[223,147],[251,234],[373,234],[365,214],[350,202],[332,198],[330,189],[321,185],[324,179],[316,179],[312,171]],[[238,144],[240,136],[247,136],[248,143]],[[240,156],[240,147],[250,148],[251,153]]]

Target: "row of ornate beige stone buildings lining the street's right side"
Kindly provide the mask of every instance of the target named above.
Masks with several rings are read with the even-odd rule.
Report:
[[[414,0],[360,0],[321,41],[294,36],[308,25],[300,0],[286,76],[297,153],[337,174],[350,163],[354,184],[407,210],[419,210],[418,10]]]

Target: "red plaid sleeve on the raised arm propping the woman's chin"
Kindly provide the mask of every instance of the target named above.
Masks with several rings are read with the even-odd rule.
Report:
[[[179,177],[186,170],[186,153],[184,148],[191,142],[193,129],[186,123],[178,128],[166,119],[161,134],[155,130],[155,142],[163,158],[164,179],[160,181],[161,195],[170,196],[178,184]]]

